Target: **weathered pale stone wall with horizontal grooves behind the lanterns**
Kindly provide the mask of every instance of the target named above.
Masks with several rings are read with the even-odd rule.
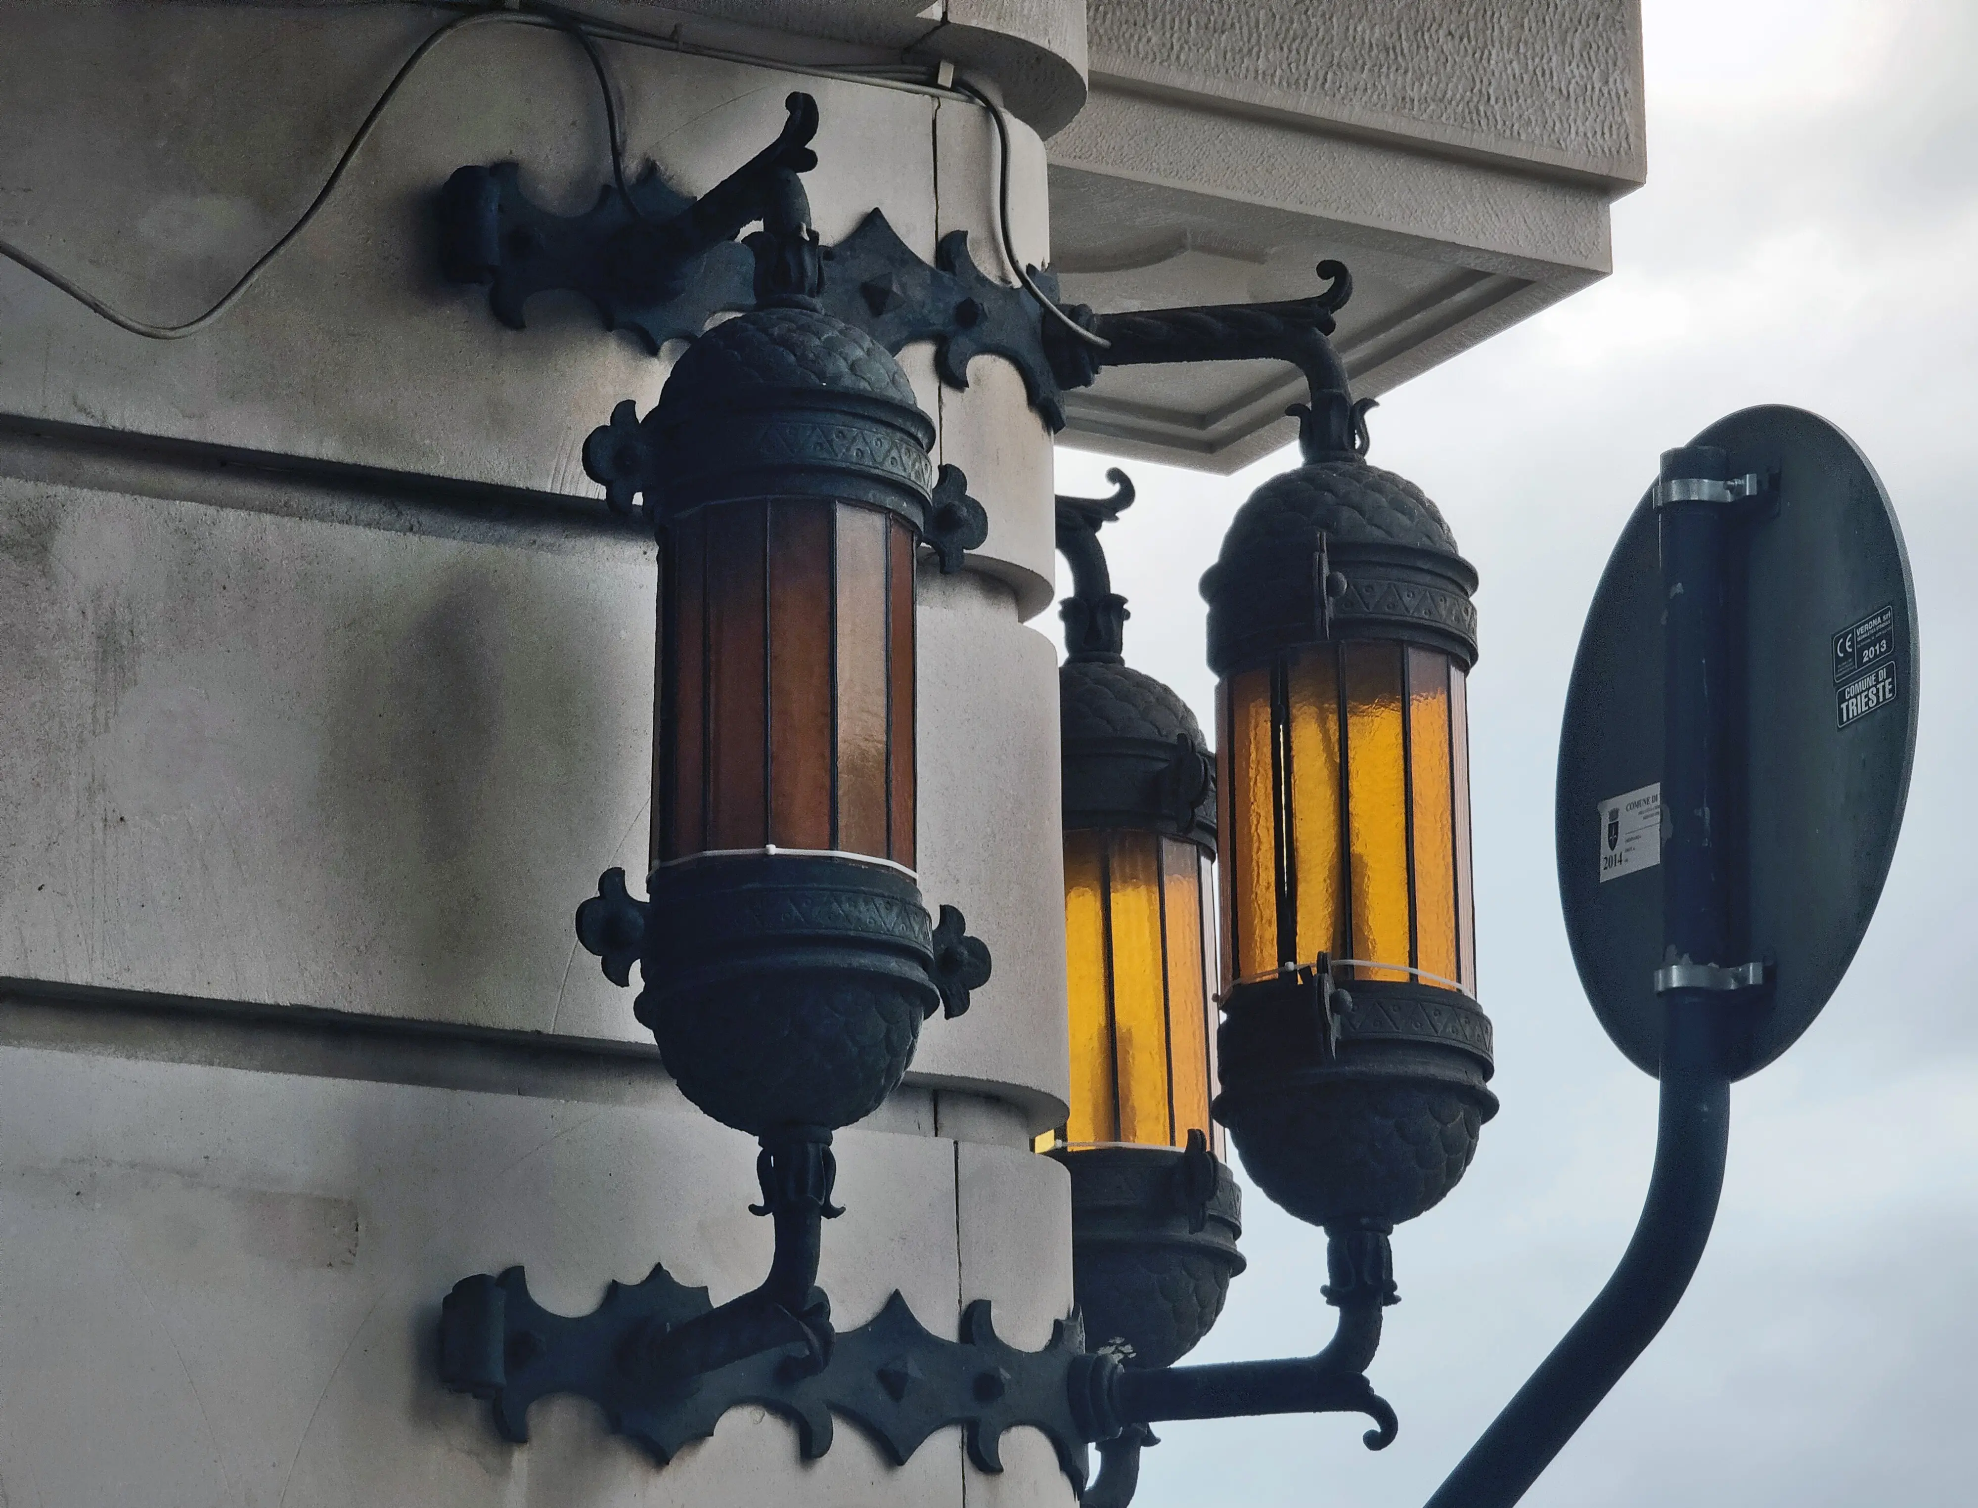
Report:
[[[0,236],[186,319],[433,24],[0,4]],[[985,26],[953,32],[991,67]],[[827,243],[878,206],[922,255],[963,228],[1009,275],[977,107],[605,55],[633,162],[678,188],[771,141],[801,87]],[[1080,59],[1058,61],[1062,95]],[[1013,103],[1050,93],[1011,79]],[[1042,146],[1015,137],[1017,251],[1042,263]],[[202,334],[140,340],[0,263],[0,1502],[1070,1504],[1033,1431],[1001,1476],[953,1429],[894,1468],[845,1425],[801,1464],[742,1409],[655,1472],[582,1401],[512,1447],[435,1379],[463,1274],[522,1263],[584,1312],[655,1261],[720,1302],[769,1259],[754,1144],[682,1100],[570,926],[601,869],[643,871],[655,617],[651,536],[578,451],[678,348],[560,295],[508,330],[439,279],[433,190],[504,158],[564,212],[609,178],[584,53],[479,24]],[[971,570],[922,582],[920,849],[995,978],[841,1134],[821,1282],[847,1328],[900,1288],[936,1330],[991,1298],[1038,1346],[1070,1306],[1064,1174],[1029,1150],[1066,1092],[1054,653],[1025,621],[1050,598],[1050,437],[999,362],[957,392],[926,348],[902,360],[991,515]]]

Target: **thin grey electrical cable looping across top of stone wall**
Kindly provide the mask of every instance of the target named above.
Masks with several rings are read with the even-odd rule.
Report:
[[[554,4],[554,0],[520,0],[518,4],[512,6],[500,4],[500,0],[481,0],[479,4],[475,4],[473,0],[463,0],[461,4],[443,4],[441,8],[459,10],[463,14],[457,14],[449,22],[441,22],[441,26],[429,32],[425,40],[411,49],[411,55],[405,57],[404,63],[400,63],[398,73],[392,75],[392,81],[384,87],[384,93],[378,95],[376,103],[364,115],[364,121],[350,137],[350,142],[338,154],[336,166],[330,168],[330,176],[322,180],[322,188],[316,190],[316,196],[309,202],[303,214],[295,220],[293,226],[289,226],[287,232],[281,234],[281,237],[273,245],[267,247],[267,251],[263,251],[253,261],[251,267],[247,267],[245,273],[239,275],[233,287],[229,287],[220,297],[220,301],[204,315],[198,315],[196,319],[190,319],[184,325],[150,325],[146,321],[119,313],[103,299],[89,293],[89,289],[81,287],[67,275],[59,273],[55,267],[49,267],[45,261],[14,245],[8,239],[0,239],[0,257],[14,261],[16,265],[34,273],[42,281],[49,283],[59,293],[65,293],[67,297],[75,299],[79,305],[89,309],[89,313],[109,321],[121,330],[129,330],[131,334],[144,336],[146,340],[184,340],[188,334],[198,334],[208,325],[225,315],[235,303],[239,303],[239,299],[247,293],[247,289],[251,289],[255,281],[259,281],[261,273],[267,271],[269,263],[273,263],[275,257],[287,251],[289,245],[305,230],[309,230],[311,222],[328,202],[338,182],[342,182],[344,172],[350,168],[350,162],[356,158],[358,150],[370,139],[372,129],[378,125],[378,119],[384,115],[386,107],[398,95],[405,79],[411,77],[413,69],[417,69],[419,63],[425,61],[427,53],[431,53],[433,47],[437,47],[439,42],[443,42],[445,38],[479,22],[508,22],[516,26],[536,26],[544,30],[564,32],[576,38],[578,46],[584,47],[584,55],[587,57],[591,71],[597,75],[597,89],[599,95],[603,97],[605,133],[611,144],[611,178],[617,184],[619,196],[627,202],[627,206],[631,206],[633,214],[639,214],[639,206],[633,202],[625,182],[623,123],[619,121],[617,103],[611,93],[611,77],[605,69],[603,55],[597,49],[597,42],[619,42],[639,47],[657,47],[663,51],[684,53],[690,57],[710,57],[716,61],[744,63],[750,67],[773,67],[783,73],[797,73],[819,79],[839,79],[847,83],[864,83],[880,89],[898,89],[902,93],[926,95],[932,99],[967,99],[969,103],[979,105],[989,113],[989,119],[995,123],[995,133],[997,133],[997,146],[999,146],[997,237],[1001,241],[999,249],[1003,251],[1003,259],[1015,271],[1017,281],[1031,293],[1031,297],[1036,299],[1036,303],[1076,338],[1100,348],[1112,344],[1100,334],[1078,325],[1078,321],[1074,321],[1070,315],[1066,315],[1058,307],[1058,303],[1036,285],[1029,269],[1017,257],[1017,243],[1015,236],[1011,236],[1011,212],[1009,212],[1009,188],[1011,188],[1009,121],[1003,117],[1003,109],[973,85],[967,83],[944,85],[934,79],[920,81],[912,77],[898,77],[900,73],[912,71],[912,65],[900,65],[900,63],[854,63],[845,67],[817,67],[809,63],[785,63],[775,57],[758,57],[752,53],[732,51],[728,47],[704,47],[698,44],[682,42],[678,36],[663,36],[659,32],[645,32],[635,26],[625,26],[623,22],[585,16],[584,12]]]

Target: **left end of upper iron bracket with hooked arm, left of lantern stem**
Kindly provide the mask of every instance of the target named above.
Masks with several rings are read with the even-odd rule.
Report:
[[[459,168],[439,192],[441,273],[485,283],[494,317],[516,330],[536,293],[582,293],[607,330],[631,330],[657,356],[714,315],[756,307],[756,259],[736,236],[817,166],[817,101],[791,95],[787,107],[775,142],[698,200],[647,164],[625,194],[607,184],[585,214],[556,216],[528,200],[514,162]]]

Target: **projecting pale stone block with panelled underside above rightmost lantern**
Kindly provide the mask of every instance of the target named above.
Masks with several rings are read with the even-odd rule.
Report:
[[[1638,0],[1090,0],[1048,142],[1054,267],[1100,311],[1294,299],[1353,267],[1377,396],[1596,281],[1646,178]],[[1209,471],[1290,443],[1272,362],[1114,368],[1070,443]]]

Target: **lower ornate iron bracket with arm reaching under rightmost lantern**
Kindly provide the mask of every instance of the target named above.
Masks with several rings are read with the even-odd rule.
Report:
[[[1337,1267],[1335,1267],[1337,1276]],[[1345,1296],[1333,1302],[1349,1302]],[[605,1411],[613,1433],[643,1447],[661,1466],[692,1441],[714,1433],[744,1403],[797,1427],[805,1461],[833,1443],[831,1415],[851,1419],[894,1464],[945,1425],[961,1425],[969,1461],[1003,1468],[1001,1439],[1017,1425],[1042,1431],[1076,1488],[1088,1472],[1086,1445],[1102,1455],[1137,1457],[1153,1443],[1155,1419],[1214,1419],[1238,1413],[1367,1413],[1371,1449],[1394,1439],[1394,1411],[1351,1362],[1369,1352],[1365,1316],[1379,1338],[1379,1298],[1341,1314],[1341,1334],[1300,1362],[1127,1371],[1084,1352],[1076,1320],[1060,1320],[1042,1350],[1025,1352],[995,1334],[989,1300],[961,1314],[959,1340],[942,1340],[894,1292],[856,1330],[837,1336],[829,1362],[813,1367],[801,1340],[726,1362],[688,1379],[659,1379],[641,1366],[655,1340],[706,1322],[716,1310],[706,1288],[686,1288],[665,1267],[639,1284],[613,1282],[603,1302],[570,1318],[542,1308],[520,1267],[500,1276],[463,1278],[441,1304],[439,1375],[459,1393],[493,1405],[502,1439],[528,1441],[528,1409],[550,1393],[578,1393]],[[1114,1492],[1131,1496],[1122,1461]]]

